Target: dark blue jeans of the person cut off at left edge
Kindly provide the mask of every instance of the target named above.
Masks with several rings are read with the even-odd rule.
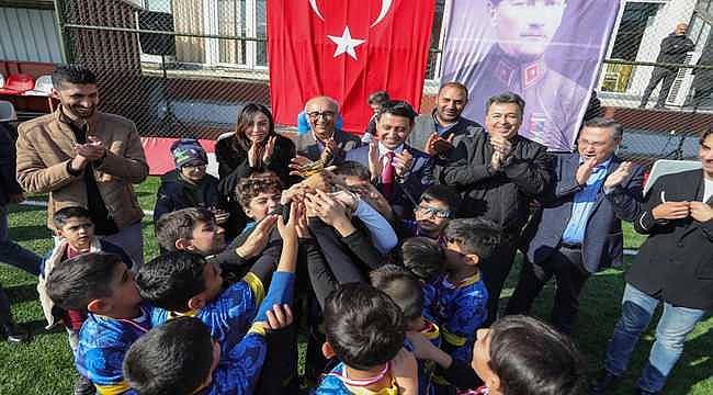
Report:
[[[29,251],[16,242],[10,240],[8,227],[8,206],[0,205],[0,262],[11,264],[31,274],[39,274],[42,258]],[[0,325],[8,326],[12,323],[10,300],[2,285],[0,285]]]

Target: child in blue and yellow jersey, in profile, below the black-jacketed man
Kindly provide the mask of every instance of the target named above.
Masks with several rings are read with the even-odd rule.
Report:
[[[490,259],[499,242],[495,224],[467,218],[453,219],[444,232],[445,274],[426,285],[429,287],[427,311],[441,328],[442,348],[455,360],[471,360],[476,330],[487,318],[488,292],[478,264]],[[445,388],[449,384],[435,376]],[[439,388],[438,393],[450,393]]]

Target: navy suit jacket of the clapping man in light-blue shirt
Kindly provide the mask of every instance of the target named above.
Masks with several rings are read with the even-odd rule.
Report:
[[[614,172],[621,160],[612,158],[607,176]],[[557,249],[562,236],[571,218],[575,195],[582,190],[577,182],[579,154],[555,156],[554,196],[544,204],[542,219],[534,238],[528,246],[528,260],[540,264]],[[595,206],[587,218],[582,242],[582,263],[593,273],[610,266],[621,267],[624,236],[621,222],[633,221],[641,210],[644,169],[636,167],[621,184],[609,194],[603,189],[597,194]]]

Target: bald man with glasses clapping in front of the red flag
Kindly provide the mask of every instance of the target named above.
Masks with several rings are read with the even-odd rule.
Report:
[[[361,139],[337,128],[339,104],[328,97],[312,98],[305,104],[305,114],[310,133],[297,136],[295,147],[297,157],[293,163],[304,166],[310,161],[325,159],[329,165],[340,163],[344,153],[361,146]]]

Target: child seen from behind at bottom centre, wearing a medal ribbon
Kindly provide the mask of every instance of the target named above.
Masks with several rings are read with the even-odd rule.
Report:
[[[404,315],[383,292],[348,283],[325,302],[326,358],[340,363],[322,375],[313,394],[418,394],[418,368],[404,350]]]

